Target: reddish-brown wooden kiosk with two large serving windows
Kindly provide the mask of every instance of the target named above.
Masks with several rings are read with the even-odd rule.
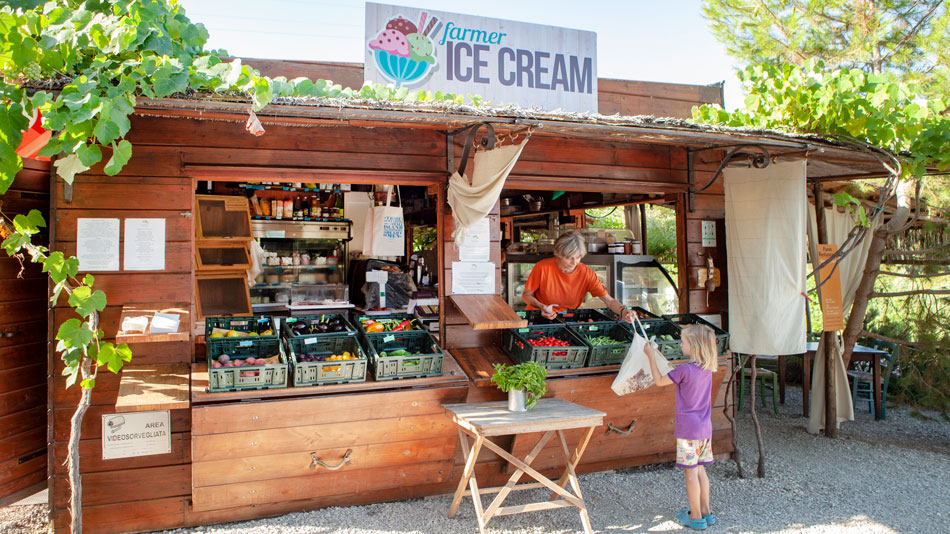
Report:
[[[359,85],[349,78],[362,79],[358,66],[352,65],[255,66],[267,74],[325,77],[345,85]],[[292,68],[296,72],[290,72]],[[721,98],[718,87],[617,80],[600,80],[599,86],[604,115],[686,116],[690,106]],[[649,96],[643,96],[644,90]],[[100,327],[117,332],[120,318],[134,307],[175,307],[186,315],[194,313],[194,206],[196,184],[201,181],[424,186],[438,206],[443,373],[412,380],[208,393],[202,340],[190,330],[164,338],[117,338],[132,347],[134,366],[121,376],[100,373],[84,420],[80,448],[87,532],[204,525],[456,489],[465,459],[443,405],[502,400],[504,394],[489,381],[491,364],[509,360],[500,348],[499,331],[485,328],[475,317],[484,311],[483,303],[450,298],[449,269],[457,251],[451,242],[445,188],[447,176],[457,166],[450,162],[457,162],[462,139],[447,132],[478,122],[490,122],[504,133],[534,125],[536,131],[507,187],[633,193],[675,205],[680,311],[724,317],[727,273],[722,286],[708,295],[697,279],[707,256],[723,270],[726,265],[724,239],[714,248],[704,248],[700,230],[701,221],[712,220],[723,235],[722,181],[696,191],[713,178],[721,163],[724,151],[716,147],[756,144],[768,147],[773,155],[800,158],[820,146],[824,149],[820,155],[809,156],[810,178],[880,171],[873,158],[826,141],[702,128],[677,120],[623,116],[581,120],[498,110],[475,115],[462,108],[318,101],[278,102],[259,117],[266,134],[254,137],[242,128],[246,102],[212,97],[141,100],[129,135],[134,155],[120,175],[105,176],[97,165],[71,187],[52,179],[49,220],[55,250],[75,253],[79,218],[166,222],[164,270],[94,273],[96,287],[109,298]],[[497,205],[489,218],[491,258],[500,266]],[[496,279],[500,289],[500,270]],[[12,287],[20,282],[3,283]],[[50,311],[51,335],[70,314],[65,301]],[[69,488],[63,460],[79,392],[65,388],[54,345],[49,344],[48,352],[48,483],[56,531],[67,532]],[[713,441],[720,457],[733,450],[733,428],[724,415],[724,410],[732,409],[732,399],[719,387],[730,368],[723,356],[714,375]],[[606,414],[577,466],[580,473],[674,457],[672,389],[651,388],[617,397],[609,389],[616,369],[551,372],[548,396]],[[170,410],[171,452],[103,460],[102,416],[135,410]],[[565,432],[568,441],[577,442],[579,432]],[[491,439],[522,458],[538,436]],[[559,474],[563,468],[559,446],[546,445],[532,467],[545,476]],[[323,464],[338,467],[327,469]],[[511,475],[506,462],[490,457],[479,457],[474,470],[480,481],[491,485],[502,485]]]

